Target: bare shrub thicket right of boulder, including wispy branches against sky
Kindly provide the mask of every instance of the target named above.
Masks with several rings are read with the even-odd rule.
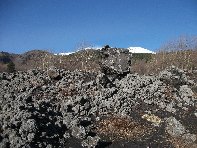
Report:
[[[162,46],[154,55],[133,54],[132,69],[139,74],[158,73],[169,66],[197,69],[197,38],[180,37]]]

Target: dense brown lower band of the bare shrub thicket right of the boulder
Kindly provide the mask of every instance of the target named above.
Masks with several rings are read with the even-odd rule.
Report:
[[[150,61],[137,60],[132,63],[132,70],[139,74],[157,74],[169,66],[180,69],[197,69],[197,50],[159,51]]]

